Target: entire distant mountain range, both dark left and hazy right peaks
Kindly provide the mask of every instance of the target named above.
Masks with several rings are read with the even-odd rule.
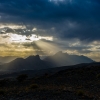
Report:
[[[29,56],[26,59],[17,58],[9,63],[0,66],[3,70],[40,70],[61,66],[69,66],[80,63],[92,63],[92,59],[85,56],[69,55],[67,53],[58,52],[53,56],[46,57],[41,60],[39,55]]]

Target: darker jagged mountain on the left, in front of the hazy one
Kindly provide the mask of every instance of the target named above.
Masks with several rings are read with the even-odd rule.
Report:
[[[17,58],[10,63],[1,66],[2,69],[6,70],[38,70],[51,68],[52,65],[47,61],[40,59],[39,55],[29,56],[26,59]]]

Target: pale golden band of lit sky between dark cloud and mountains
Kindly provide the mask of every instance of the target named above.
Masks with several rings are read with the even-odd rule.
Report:
[[[42,32],[45,35],[41,34]],[[60,40],[60,38],[46,35],[46,30],[36,27],[27,29],[24,25],[13,24],[0,24],[0,33],[0,56],[27,57],[63,51],[68,54],[85,55],[100,61],[100,41],[85,44],[79,39]]]

